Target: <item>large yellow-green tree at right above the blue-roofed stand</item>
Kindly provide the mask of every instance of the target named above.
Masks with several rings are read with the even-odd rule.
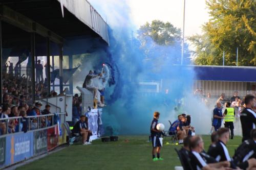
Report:
[[[256,65],[255,0],[208,0],[211,19],[203,25],[203,35],[189,37],[196,46],[198,65]]]

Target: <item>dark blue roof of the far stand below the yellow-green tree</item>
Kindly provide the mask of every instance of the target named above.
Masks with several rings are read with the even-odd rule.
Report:
[[[256,82],[256,67],[190,65],[196,80]]]

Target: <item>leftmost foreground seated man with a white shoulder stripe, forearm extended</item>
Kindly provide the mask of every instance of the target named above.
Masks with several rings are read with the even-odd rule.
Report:
[[[193,136],[190,139],[190,154],[189,157],[191,159],[191,165],[193,170],[197,169],[226,169],[225,167],[229,167],[230,163],[228,161],[217,162],[217,163],[208,163],[205,155],[202,154],[204,150],[204,142],[200,136]]]

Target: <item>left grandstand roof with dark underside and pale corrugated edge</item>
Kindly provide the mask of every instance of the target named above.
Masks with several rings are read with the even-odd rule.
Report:
[[[98,38],[109,44],[106,22],[86,0],[0,0],[0,9],[4,21],[3,48],[30,47],[30,32],[41,36],[35,39],[39,56],[46,55],[44,37],[64,43],[64,48],[69,49],[77,45],[72,41],[87,38]],[[86,53],[80,50],[77,54]],[[51,51],[58,52],[54,46]],[[72,55],[65,49],[63,53]]]

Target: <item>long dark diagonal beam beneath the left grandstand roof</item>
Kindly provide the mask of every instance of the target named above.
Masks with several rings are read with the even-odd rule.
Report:
[[[41,26],[39,23],[12,10],[11,8],[5,5],[0,6],[0,16],[3,21],[6,21],[20,29],[23,29],[27,32],[37,33],[43,37],[49,37],[51,41],[58,44],[63,43],[63,38],[59,35],[51,32],[44,26]]]

